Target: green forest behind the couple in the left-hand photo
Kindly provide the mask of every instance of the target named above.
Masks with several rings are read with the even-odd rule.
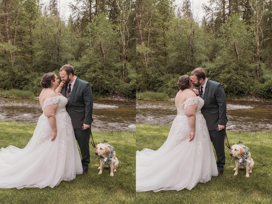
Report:
[[[135,1],[0,1],[0,88],[38,95],[44,73],[72,64],[94,96],[135,98]]]

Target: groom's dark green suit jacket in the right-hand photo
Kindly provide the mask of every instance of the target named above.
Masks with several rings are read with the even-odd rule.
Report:
[[[199,90],[200,87],[195,87]],[[200,92],[200,90],[199,90]],[[204,105],[201,112],[206,120],[209,130],[216,130],[217,125],[227,124],[227,103],[222,85],[207,78],[203,94]]]

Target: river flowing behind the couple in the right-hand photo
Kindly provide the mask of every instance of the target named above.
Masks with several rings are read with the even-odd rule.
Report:
[[[172,101],[136,101],[136,121],[171,125],[177,110]],[[272,131],[272,102],[227,100],[226,129],[233,132]]]

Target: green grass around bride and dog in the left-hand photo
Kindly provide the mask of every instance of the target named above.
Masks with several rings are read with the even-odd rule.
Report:
[[[0,148],[25,147],[35,127],[36,124],[0,122]],[[70,182],[62,181],[54,188],[0,189],[0,203],[132,203],[135,199],[135,132],[92,132],[96,144],[107,140],[115,147],[119,167],[113,177],[109,176],[110,169],[98,175],[99,160],[90,145],[91,162],[86,175],[77,175]]]

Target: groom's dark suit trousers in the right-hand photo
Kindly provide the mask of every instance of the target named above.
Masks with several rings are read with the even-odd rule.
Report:
[[[226,129],[223,129],[219,132],[217,132],[216,130],[209,130],[210,139],[216,152],[216,164],[218,171],[223,171],[225,165],[225,131]]]

